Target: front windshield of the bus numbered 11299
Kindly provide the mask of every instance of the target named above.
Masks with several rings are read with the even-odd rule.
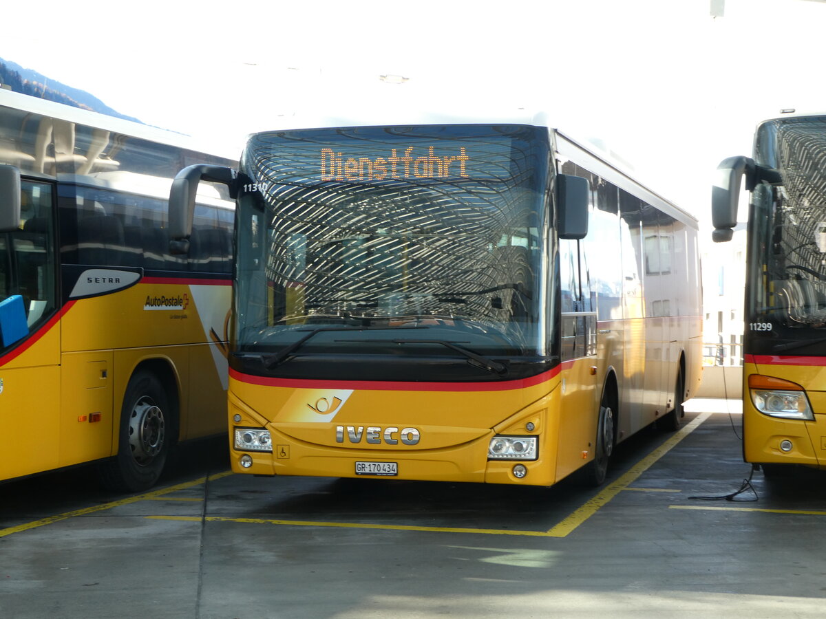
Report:
[[[752,197],[748,330],[782,352],[826,337],[826,116],[764,123],[756,155],[781,182]]]

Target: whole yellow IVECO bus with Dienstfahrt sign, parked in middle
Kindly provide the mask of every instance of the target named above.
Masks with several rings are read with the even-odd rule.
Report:
[[[681,422],[697,222],[544,116],[335,121],[237,170],[233,470],[548,486]]]

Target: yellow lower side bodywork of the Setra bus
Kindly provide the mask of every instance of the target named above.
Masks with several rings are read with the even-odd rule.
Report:
[[[145,309],[147,297],[158,295],[189,302],[183,309]],[[229,280],[150,280],[64,305],[0,357],[0,480],[114,456],[126,385],[146,362],[163,364],[174,377],[175,440],[224,432],[216,402],[225,398],[229,300]]]

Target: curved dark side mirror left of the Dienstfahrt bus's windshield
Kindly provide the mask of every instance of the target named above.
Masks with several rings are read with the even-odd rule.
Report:
[[[173,254],[189,253],[195,196],[202,180],[221,182],[230,187],[230,196],[235,196],[235,172],[231,168],[197,163],[178,172],[169,189],[169,251]]]

